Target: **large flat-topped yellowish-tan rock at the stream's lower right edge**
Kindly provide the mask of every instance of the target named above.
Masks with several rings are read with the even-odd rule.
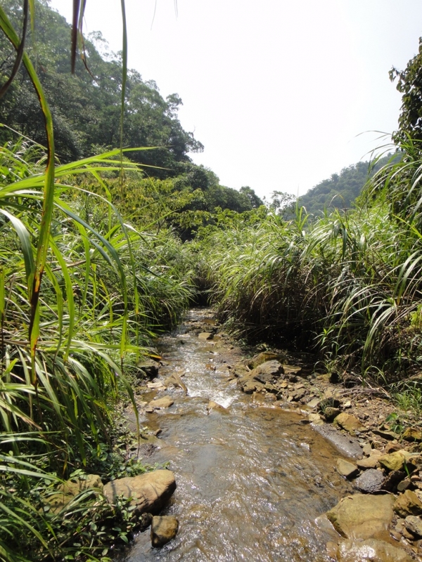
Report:
[[[342,537],[365,540],[388,529],[394,502],[390,494],[346,496],[326,515]]]

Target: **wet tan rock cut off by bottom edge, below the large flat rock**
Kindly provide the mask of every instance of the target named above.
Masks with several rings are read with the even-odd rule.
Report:
[[[405,550],[377,539],[342,541],[338,545],[337,559],[338,562],[412,562]]]

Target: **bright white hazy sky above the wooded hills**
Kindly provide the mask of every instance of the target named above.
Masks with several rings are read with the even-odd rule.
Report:
[[[71,20],[71,0],[51,0]],[[421,0],[126,0],[129,67],[178,93],[193,154],[222,185],[302,195],[385,145],[418,51]],[[85,33],[122,46],[120,1],[87,0]],[[381,132],[379,132],[381,131]]]

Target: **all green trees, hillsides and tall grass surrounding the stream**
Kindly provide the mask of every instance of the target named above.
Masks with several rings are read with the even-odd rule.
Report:
[[[192,303],[421,412],[422,43],[392,71],[387,150],[264,204],[192,162],[177,93],[101,34],[72,43],[46,0],[2,1],[0,27],[1,560],[107,562],[128,542],[124,502],[52,498],[75,474],[146,470],[117,412]]]

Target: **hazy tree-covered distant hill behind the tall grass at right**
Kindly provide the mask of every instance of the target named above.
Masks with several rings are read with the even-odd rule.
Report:
[[[387,164],[392,155],[387,155],[371,168],[371,175]],[[340,174],[333,174],[331,178],[323,180],[314,188],[299,197],[300,207],[305,207],[308,213],[319,214],[324,209],[347,209],[352,207],[356,197],[362,191],[369,178],[370,162],[357,162],[343,168]]]

